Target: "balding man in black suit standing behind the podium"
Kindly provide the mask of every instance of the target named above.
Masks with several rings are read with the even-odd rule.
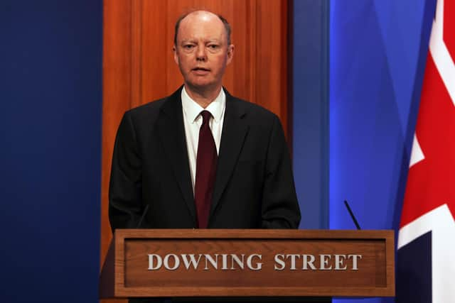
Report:
[[[109,186],[115,228],[297,228],[299,205],[276,115],[222,87],[234,54],[223,17],[176,23],[184,85],[124,114]]]

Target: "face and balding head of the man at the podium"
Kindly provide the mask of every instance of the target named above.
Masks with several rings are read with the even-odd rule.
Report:
[[[181,21],[173,55],[186,85],[195,89],[220,87],[233,52],[225,26],[215,14],[196,11]]]

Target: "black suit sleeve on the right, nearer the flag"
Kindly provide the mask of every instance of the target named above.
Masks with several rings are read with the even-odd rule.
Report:
[[[282,125],[274,116],[262,193],[262,228],[298,228],[300,219],[289,150]]]

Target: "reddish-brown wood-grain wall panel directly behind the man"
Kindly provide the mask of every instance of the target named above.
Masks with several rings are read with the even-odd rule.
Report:
[[[228,19],[235,54],[223,85],[277,114],[288,134],[287,2],[104,0],[101,261],[112,238],[107,205],[117,127],[124,111],[165,97],[183,83],[172,54],[178,16],[207,9]]]

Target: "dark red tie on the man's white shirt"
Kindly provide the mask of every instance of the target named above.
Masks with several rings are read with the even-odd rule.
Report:
[[[196,159],[196,184],[194,185],[194,199],[198,211],[198,228],[207,228],[208,214],[212,204],[213,186],[218,155],[215,141],[210,131],[209,121],[212,114],[201,111],[202,125],[199,129],[198,156]]]

